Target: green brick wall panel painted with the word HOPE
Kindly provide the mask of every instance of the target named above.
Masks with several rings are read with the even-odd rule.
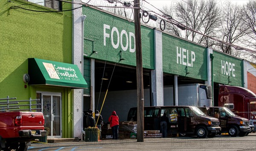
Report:
[[[243,61],[218,51],[213,55],[213,81],[243,87]]]

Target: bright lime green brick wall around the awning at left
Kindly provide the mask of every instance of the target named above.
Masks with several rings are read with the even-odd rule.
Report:
[[[72,63],[72,12],[32,12],[10,9],[19,6],[26,9],[49,11],[49,8],[31,4],[25,0],[0,1],[0,98],[6,96],[17,99],[35,99],[36,91],[61,92],[62,134],[72,137],[70,113],[72,113],[71,93],[65,88],[38,88],[23,82],[23,74],[28,73],[28,58]],[[71,4],[63,3],[64,9]],[[24,88],[27,85],[27,88]]]

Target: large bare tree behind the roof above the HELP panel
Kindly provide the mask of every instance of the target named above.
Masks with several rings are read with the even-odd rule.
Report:
[[[171,8],[164,7],[163,12],[168,15],[173,15]],[[177,3],[174,8],[175,20],[182,23],[183,25],[199,31],[205,35],[211,37],[216,37],[216,30],[220,24],[220,10],[215,0],[183,0]],[[169,25],[169,32],[184,37],[188,40],[195,41],[199,44],[204,44],[207,46],[213,46],[213,41],[209,41],[203,35],[199,35],[191,30],[186,30],[182,32],[177,29],[176,26]]]

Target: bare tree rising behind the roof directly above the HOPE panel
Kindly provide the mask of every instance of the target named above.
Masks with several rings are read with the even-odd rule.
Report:
[[[230,44],[236,44],[244,35],[247,34],[248,28],[243,23],[242,9],[238,5],[233,5],[230,2],[226,3],[222,9],[222,21],[221,21],[221,40]],[[219,44],[221,50],[225,53],[236,55],[233,53],[236,50],[226,44]]]

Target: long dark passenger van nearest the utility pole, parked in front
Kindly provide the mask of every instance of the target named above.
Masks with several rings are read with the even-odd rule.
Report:
[[[168,134],[196,134],[205,138],[214,137],[221,130],[218,119],[193,106],[144,107],[144,130],[160,130],[163,113],[169,117]],[[127,120],[137,121],[137,107],[129,110]]]

